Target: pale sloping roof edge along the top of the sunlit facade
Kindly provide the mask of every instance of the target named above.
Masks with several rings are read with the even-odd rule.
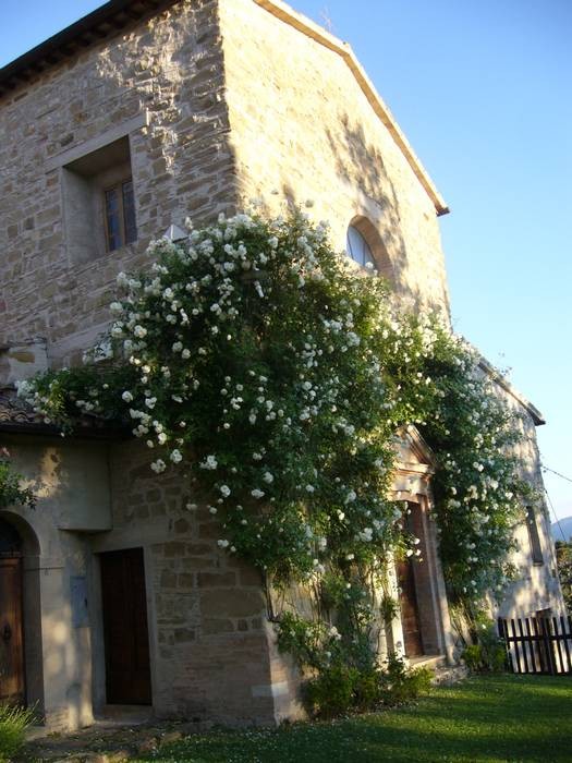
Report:
[[[355,57],[351,46],[348,43],[343,43],[338,37],[324,29],[321,26],[311,21],[306,16],[294,11],[293,8],[288,5],[282,0],[254,0],[257,5],[264,8],[280,21],[294,27],[299,32],[302,32],[306,36],[311,37],[316,43],[319,43],[324,47],[332,50],[333,52],[341,56],[350,68],[352,74],[354,75],[357,84],[362,88],[365,97],[367,98],[369,105],[374,109],[377,117],[380,119],[382,124],[388,129],[391,137],[395,142],[397,146],[405,157],[407,164],[412,168],[415,177],[419,183],[425,189],[427,195],[431,199],[437,215],[447,215],[449,213],[449,207],[442,198],[441,194],[437,191],[433,180],[429,178],[427,170],[423,167],[419,158],[416,156],[415,152],[411,147],[407,138],[401,132],[395,118],[389,110],[389,108],[384,102],[381,96],[377,93],[374,84],[365,73],[362,64]]]

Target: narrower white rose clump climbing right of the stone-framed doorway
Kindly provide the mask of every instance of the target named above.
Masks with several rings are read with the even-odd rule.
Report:
[[[418,428],[437,456],[434,517],[453,601],[502,592],[513,572],[509,555],[523,500],[537,498],[520,476],[519,417],[479,361],[465,342],[439,332],[423,362],[435,385],[416,408]]]

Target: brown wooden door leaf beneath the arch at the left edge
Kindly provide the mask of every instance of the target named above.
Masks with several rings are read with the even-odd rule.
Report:
[[[0,702],[25,701],[22,558],[0,556]]]

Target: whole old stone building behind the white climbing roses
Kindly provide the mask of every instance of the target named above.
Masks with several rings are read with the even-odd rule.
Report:
[[[82,362],[108,326],[119,271],[153,238],[253,198],[313,199],[333,244],[372,262],[404,307],[449,298],[447,205],[351,48],[280,0],[111,0],[0,70],[0,445],[36,509],[0,510],[0,700],[52,728],[112,705],[159,717],[276,723],[301,715],[255,570],[217,547],[206,508],[139,443],[94,425],[62,439],[14,383]],[[536,409],[523,413],[539,483]],[[436,531],[433,457],[401,433],[395,496],[425,561],[395,570],[387,649],[454,659]],[[501,614],[561,611],[549,526],[518,531]]]

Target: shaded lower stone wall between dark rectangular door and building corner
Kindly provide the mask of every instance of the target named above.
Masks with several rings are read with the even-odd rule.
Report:
[[[93,550],[144,549],[154,712],[273,723],[260,574],[218,547],[219,519],[180,469],[154,474],[139,443],[113,447],[111,495],[113,530]]]

